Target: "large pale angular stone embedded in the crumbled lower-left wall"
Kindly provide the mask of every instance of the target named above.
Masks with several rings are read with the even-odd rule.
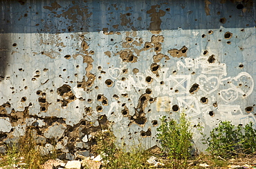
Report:
[[[55,138],[55,140],[59,140],[66,130],[66,127],[61,123],[55,123],[53,126],[50,126],[46,132],[44,132],[44,137],[47,139]]]

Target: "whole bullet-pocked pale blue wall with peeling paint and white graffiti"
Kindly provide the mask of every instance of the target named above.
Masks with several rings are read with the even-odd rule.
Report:
[[[1,1],[0,140],[89,155],[111,126],[158,145],[160,118],[256,122],[254,1]],[[55,141],[55,145],[52,141]]]

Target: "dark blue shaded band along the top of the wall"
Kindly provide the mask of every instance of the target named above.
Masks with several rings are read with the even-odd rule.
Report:
[[[248,28],[253,0],[12,0],[0,2],[0,33]]]

